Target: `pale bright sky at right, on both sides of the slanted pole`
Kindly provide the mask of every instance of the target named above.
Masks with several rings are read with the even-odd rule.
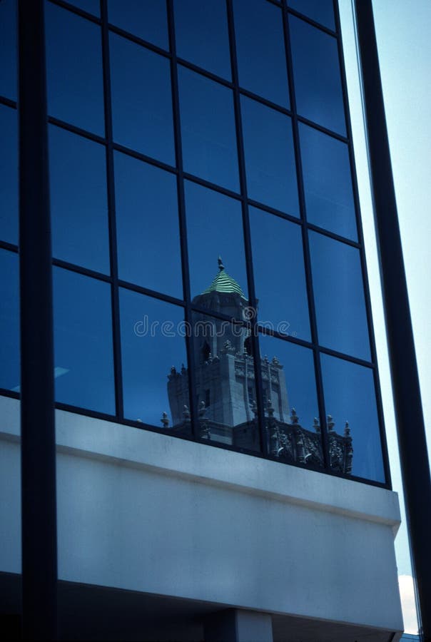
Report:
[[[420,374],[422,405],[427,428],[428,452],[431,445],[431,342],[430,328],[431,218],[429,185],[431,170],[431,3],[429,0],[374,0],[377,44],[385,96],[387,128],[390,137],[392,170],[395,179],[398,215],[405,256],[413,330]],[[385,345],[372,208],[368,188],[367,161],[362,129],[362,112],[356,67],[350,0],[340,0],[350,109],[353,119],[355,153],[362,220],[370,275],[372,310],[382,383],[387,440],[390,449],[392,483],[400,492],[400,466],[397,456],[395,417]],[[405,524],[396,539],[400,575],[410,574]],[[414,606],[403,596],[406,631],[415,632]]]

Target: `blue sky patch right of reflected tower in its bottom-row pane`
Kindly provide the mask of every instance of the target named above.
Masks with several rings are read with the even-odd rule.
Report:
[[[271,361],[277,357],[283,366],[290,411],[295,408],[300,425],[313,430],[313,421],[319,417],[316,394],[313,352],[288,341],[259,335],[260,355]]]

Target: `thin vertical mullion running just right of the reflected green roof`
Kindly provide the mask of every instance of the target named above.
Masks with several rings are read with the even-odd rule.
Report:
[[[233,81],[233,106],[235,111],[235,126],[236,126],[236,141],[238,149],[238,168],[240,174],[240,190],[242,195],[241,208],[243,214],[243,233],[244,233],[244,246],[245,246],[245,267],[247,270],[248,282],[248,299],[250,301],[252,310],[255,315],[251,320],[251,342],[253,345],[253,364],[255,371],[255,388],[256,388],[256,401],[258,405],[258,424],[260,435],[260,450],[264,455],[268,455],[268,439],[265,430],[265,407],[263,404],[263,384],[262,373],[260,368],[260,349],[258,340],[258,325],[256,319],[258,301],[255,295],[255,282],[253,275],[253,257],[251,249],[251,233],[250,233],[250,219],[248,217],[248,202],[247,202],[247,177],[245,173],[245,156],[244,156],[244,139],[243,139],[243,124],[241,121],[241,106],[240,106],[240,91],[238,80],[238,60],[236,56],[236,43],[235,43],[235,22],[233,18],[232,0],[226,0],[226,9],[228,12],[228,29],[229,29],[229,43],[230,43],[230,63],[232,68],[232,81]]]

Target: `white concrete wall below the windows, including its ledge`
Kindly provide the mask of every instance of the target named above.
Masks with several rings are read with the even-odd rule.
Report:
[[[19,403],[0,404],[0,571],[19,572]],[[395,493],[56,419],[61,579],[402,630]]]

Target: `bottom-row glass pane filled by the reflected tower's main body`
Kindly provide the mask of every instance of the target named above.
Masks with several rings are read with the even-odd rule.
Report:
[[[225,305],[236,305],[233,294],[224,298]],[[245,327],[193,314],[195,399],[201,437],[258,450],[255,376],[247,338]]]

